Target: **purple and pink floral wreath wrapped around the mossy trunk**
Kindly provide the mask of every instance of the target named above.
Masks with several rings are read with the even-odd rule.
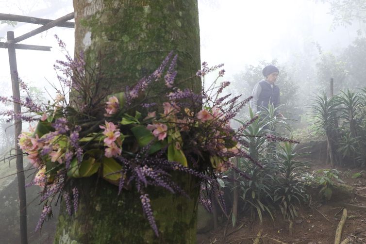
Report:
[[[250,159],[241,131],[256,117],[238,130],[230,127],[230,120],[250,98],[239,102],[240,96],[223,95],[230,84],[228,81],[217,84],[224,75],[223,69],[201,94],[181,90],[178,87],[186,81],[176,81],[176,62],[177,55],[169,53],[150,76],[122,92],[104,94],[93,73],[85,69],[83,55],[76,59],[67,55],[67,62],[58,61],[55,65],[57,72],[62,72],[58,76],[62,89],[56,88],[58,95],[54,101],[38,105],[31,96],[15,101],[26,111],[8,112],[11,119],[38,121],[29,132],[19,136],[18,142],[36,169],[30,185],[43,189],[44,209],[36,229],[51,214],[51,203],[60,194],[67,212],[77,211],[78,189],[68,192],[66,187],[74,178],[98,174],[115,184],[118,194],[128,185],[136,186],[142,209],[158,235],[147,186],[160,186],[185,195],[171,180],[171,171],[186,172],[211,184],[216,182],[217,173],[229,169],[247,177],[233,166],[230,158]],[[205,75],[221,67],[202,64],[196,76],[203,80],[203,87]],[[162,83],[166,86],[164,91],[153,94],[152,88]],[[29,95],[23,82],[21,87]],[[70,92],[72,96],[68,98]],[[155,103],[156,97],[165,97],[165,102]]]

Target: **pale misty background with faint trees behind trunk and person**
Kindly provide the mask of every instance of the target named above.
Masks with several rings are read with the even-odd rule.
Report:
[[[220,81],[231,81],[227,92],[242,94],[243,99],[250,96],[255,83],[263,78],[264,66],[279,67],[277,84],[283,103],[280,109],[285,117],[294,119],[291,121],[294,130],[307,131],[311,127],[307,105],[315,94],[323,91],[329,94],[331,78],[335,94],[366,86],[366,0],[198,2],[201,62],[207,62],[209,66],[224,63],[226,74]],[[72,0],[0,0],[0,12],[56,19],[73,12],[73,6]],[[40,25],[0,21],[0,41],[6,42],[7,31],[14,31],[17,37],[38,27]],[[40,100],[54,97],[50,83],[57,85],[58,80],[53,65],[56,60],[65,60],[55,34],[66,43],[72,55],[74,29],[62,27],[54,27],[20,42],[51,46],[50,52],[17,49],[19,77],[32,87],[34,96]],[[207,76],[206,85],[215,78],[215,74]],[[11,95],[8,50],[0,49],[0,96]],[[1,110],[12,107],[12,104],[0,104]],[[246,107],[239,119],[247,118]],[[23,124],[23,130],[27,128],[28,125]],[[12,124],[0,117],[0,155],[12,153],[13,133]],[[15,171],[15,161],[0,163],[0,192],[15,178],[12,175]],[[16,196],[14,199],[17,201]],[[11,205],[10,199],[3,201],[5,207]],[[37,200],[33,205],[36,203]],[[39,211],[34,212],[37,219]],[[16,216],[7,221],[18,226]]]

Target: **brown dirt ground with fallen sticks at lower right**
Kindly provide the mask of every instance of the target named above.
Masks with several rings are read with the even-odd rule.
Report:
[[[330,168],[330,165],[314,161],[311,163],[311,171],[326,168]],[[348,238],[349,244],[366,244],[366,174],[361,178],[351,178],[354,173],[366,168],[335,168],[342,172],[340,179],[353,186],[356,194],[327,202],[312,200],[309,206],[299,207],[299,217],[293,221],[292,233],[289,231],[289,222],[283,220],[281,214],[274,216],[275,223],[267,218],[259,224],[259,221],[244,217],[235,228],[231,223],[223,222],[214,231],[198,234],[197,243],[254,244],[257,233],[262,229],[262,238],[257,244],[333,244],[342,211],[346,208],[348,218],[341,241]]]

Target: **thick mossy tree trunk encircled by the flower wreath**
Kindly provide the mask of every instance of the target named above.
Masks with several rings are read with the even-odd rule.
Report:
[[[98,69],[103,90],[124,91],[171,50],[179,55],[178,79],[200,68],[197,0],[74,0],[74,9],[75,54],[83,52],[86,65]],[[200,92],[199,79],[186,86]],[[134,189],[117,196],[117,187],[103,179],[75,180],[79,208],[69,216],[62,203],[54,243],[196,243],[198,181],[184,174],[174,178],[190,198],[149,189],[159,237]]]

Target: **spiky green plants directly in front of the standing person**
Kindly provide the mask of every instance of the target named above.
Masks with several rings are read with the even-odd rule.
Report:
[[[307,162],[298,160],[304,154],[296,153],[295,145],[268,142],[263,137],[280,128],[291,130],[285,121],[275,116],[273,106],[261,112],[260,116],[260,119],[246,128],[244,139],[248,144],[248,154],[260,162],[262,167],[248,159],[239,159],[238,167],[250,177],[249,180],[240,181],[239,192],[243,204],[239,206],[242,206],[243,211],[258,216],[261,222],[264,214],[273,220],[274,209],[281,210],[284,218],[292,219],[298,214],[297,206],[308,200],[301,180],[307,169]],[[254,117],[251,110],[250,117]],[[230,186],[230,182],[226,185]]]

